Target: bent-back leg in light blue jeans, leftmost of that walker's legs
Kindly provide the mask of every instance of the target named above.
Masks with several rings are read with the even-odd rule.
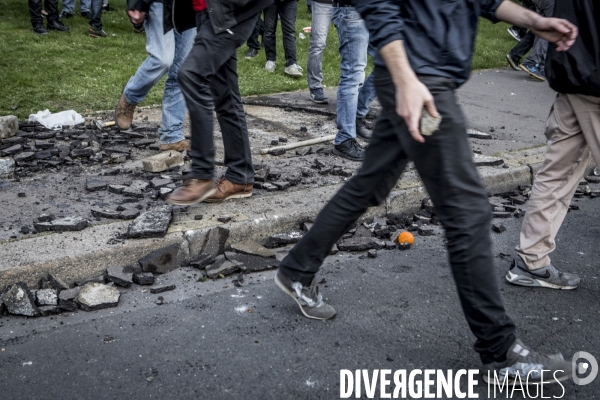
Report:
[[[125,99],[130,104],[138,104],[144,100],[150,89],[169,72],[175,57],[175,33],[173,30],[164,33],[162,3],[154,2],[150,5],[144,28],[148,57],[123,90]]]

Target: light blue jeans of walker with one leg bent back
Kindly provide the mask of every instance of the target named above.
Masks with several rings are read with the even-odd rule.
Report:
[[[181,34],[174,29],[164,33],[163,5],[157,2],[150,5],[144,28],[148,58],[129,79],[123,93],[129,103],[138,104],[166,74],[162,123],[158,133],[161,143],[176,143],[184,139],[182,129],[186,111],[185,100],[177,84],[177,72],[194,44],[196,29],[188,29]]]

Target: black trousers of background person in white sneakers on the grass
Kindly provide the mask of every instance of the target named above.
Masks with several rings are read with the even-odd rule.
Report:
[[[283,33],[283,50],[285,52],[285,66],[296,64],[296,13],[298,2],[276,1],[265,9],[265,35],[263,44],[267,61],[276,61],[275,31],[277,30],[277,15],[281,19],[281,31]]]

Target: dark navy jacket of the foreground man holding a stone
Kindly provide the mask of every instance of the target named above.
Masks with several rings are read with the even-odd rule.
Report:
[[[592,0],[595,1],[595,0]],[[469,78],[477,22],[497,22],[502,0],[352,0],[380,49],[402,40],[418,75],[452,79],[460,86]],[[380,55],[375,64],[385,66]]]

